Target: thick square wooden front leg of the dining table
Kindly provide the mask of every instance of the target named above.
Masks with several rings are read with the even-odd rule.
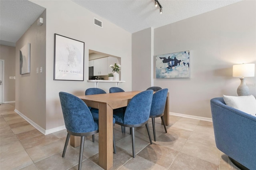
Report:
[[[99,103],[99,165],[113,166],[113,109],[104,103]]]

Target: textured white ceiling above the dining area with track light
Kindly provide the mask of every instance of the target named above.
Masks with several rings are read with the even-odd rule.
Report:
[[[72,0],[124,30],[134,33],[149,27],[158,28],[196,16],[240,0]]]

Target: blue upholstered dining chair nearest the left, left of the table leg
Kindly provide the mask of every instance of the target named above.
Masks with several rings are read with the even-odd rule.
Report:
[[[60,92],[59,96],[65,126],[68,132],[62,157],[65,156],[70,134],[81,136],[78,164],[78,170],[80,170],[84,150],[84,136],[98,133],[98,121],[93,119],[92,113],[87,105],[78,97],[65,92]]]

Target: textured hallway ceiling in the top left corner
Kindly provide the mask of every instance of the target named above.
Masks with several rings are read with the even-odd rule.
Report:
[[[0,40],[15,45],[45,8],[28,0],[0,0]]]

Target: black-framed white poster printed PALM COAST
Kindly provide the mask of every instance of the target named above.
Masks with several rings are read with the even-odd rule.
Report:
[[[84,81],[84,42],[54,34],[54,80]]]

